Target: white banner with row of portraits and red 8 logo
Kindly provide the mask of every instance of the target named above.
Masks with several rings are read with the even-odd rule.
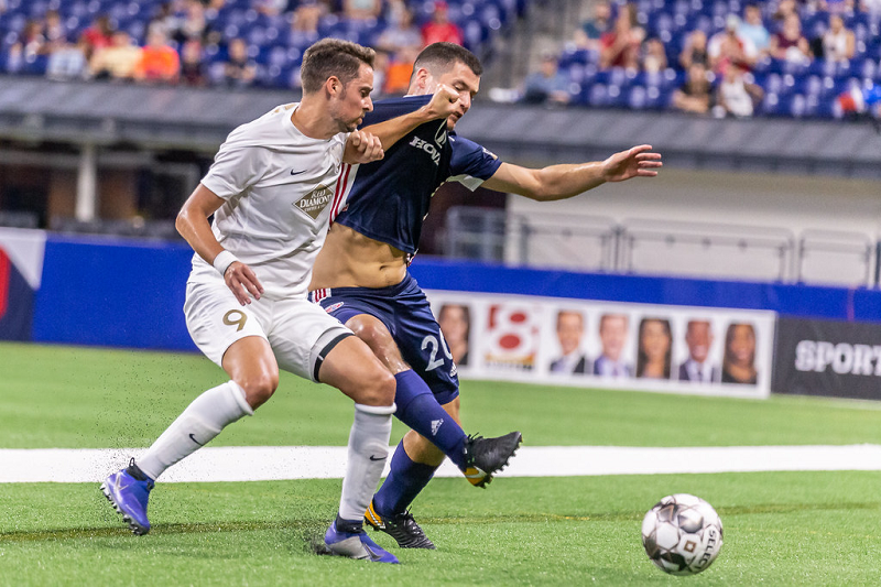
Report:
[[[464,379],[766,398],[774,313],[426,291]]]

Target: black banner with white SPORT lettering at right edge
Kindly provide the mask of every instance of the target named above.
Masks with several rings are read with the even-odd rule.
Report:
[[[780,318],[775,393],[881,400],[877,324]]]

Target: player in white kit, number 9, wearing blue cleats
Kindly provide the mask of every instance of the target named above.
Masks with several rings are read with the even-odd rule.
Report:
[[[355,131],[372,110],[373,56],[373,50],[331,39],[309,47],[302,101],[233,130],[177,217],[196,252],[184,304],[187,328],[230,380],[196,398],[137,464],[132,458],[101,485],[135,534],[150,531],[146,506],[155,479],[225,426],[252,415],[275,391],[282,368],[355,401],[339,513],[325,535],[328,551],[398,563],[361,528],[385,464],[395,381],[365,343],[308,302],[307,286],[341,164],[381,159],[383,148],[416,126],[449,116],[457,96],[439,91],[422,111],[376,134]]]

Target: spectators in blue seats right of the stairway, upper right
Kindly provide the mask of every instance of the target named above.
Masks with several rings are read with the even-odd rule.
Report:
[[[551,106],[836,116],[842,94],[881,77],[879,20],[881,0],[600,0],[573,39],[542,55],[521,95]]]

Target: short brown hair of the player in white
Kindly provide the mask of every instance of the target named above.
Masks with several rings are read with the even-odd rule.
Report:
[[[300,77],[303,94],[318,91],[329,77],[336,76],[345,86],[356,77],[361,64],[373,67],[376,52],[339,39],[322,39],[303,54]]]

